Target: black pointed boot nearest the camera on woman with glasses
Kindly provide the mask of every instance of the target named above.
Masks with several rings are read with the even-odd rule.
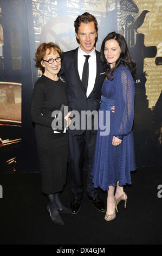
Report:
[[[64,225],[59,210],[57,209],[55,194],[46,194],[46,197],[49,201],[47,210],[50,214],[51,220],[56,224]]]

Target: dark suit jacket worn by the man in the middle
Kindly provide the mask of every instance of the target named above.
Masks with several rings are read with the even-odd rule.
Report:
[[[79,72],[77,69],[77,51],[78,48],[72,51],[64,52],[64,58],[62,62],[62,74],[66,77],[67,80],[67,92],[69,107],[73,110],[79,111],[94,111],[98,110],[101,99],[101,87],[105,78],[105,74],[102,74],[103,66],[100,61],[100,53],[96,52],[96,79],[92,92],[87,97],[86,92],[82,86]],[[81,128],[81,127],[80,127]],[[80,135],[85,130],[70,130],[70,134]],[[96,130],[92,130],[93,133],[96,133]]]

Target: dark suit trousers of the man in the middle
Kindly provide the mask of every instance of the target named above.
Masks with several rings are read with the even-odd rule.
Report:
[[[86,143],[87,152],[87,193],[90,197],[98,196],[98,189],[93,187],[92,170],[96,134],[86,130],[82,135],[69,134],[69,169],[72,179],[72,192],[75,198],[83,197],[83,156]]]

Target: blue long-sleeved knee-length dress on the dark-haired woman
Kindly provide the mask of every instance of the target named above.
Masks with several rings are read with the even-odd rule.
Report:
[[[120,186],[131,184],[130,172],[136,169],[132,132],[133,77],[124,65],[113,72],[113,77],[113,80],[105,80],[101,89],[99,127],[91,173],[94,187],[102,190],[108,190],[108,186],[116,186],[116,181],[119,181]],[[113,105],[115,113],[111,109]],[[109,130],[109,135],[108,132],[104,133],[104,125]],[[118,147],[112,145],[113,136],[122,138]]]

